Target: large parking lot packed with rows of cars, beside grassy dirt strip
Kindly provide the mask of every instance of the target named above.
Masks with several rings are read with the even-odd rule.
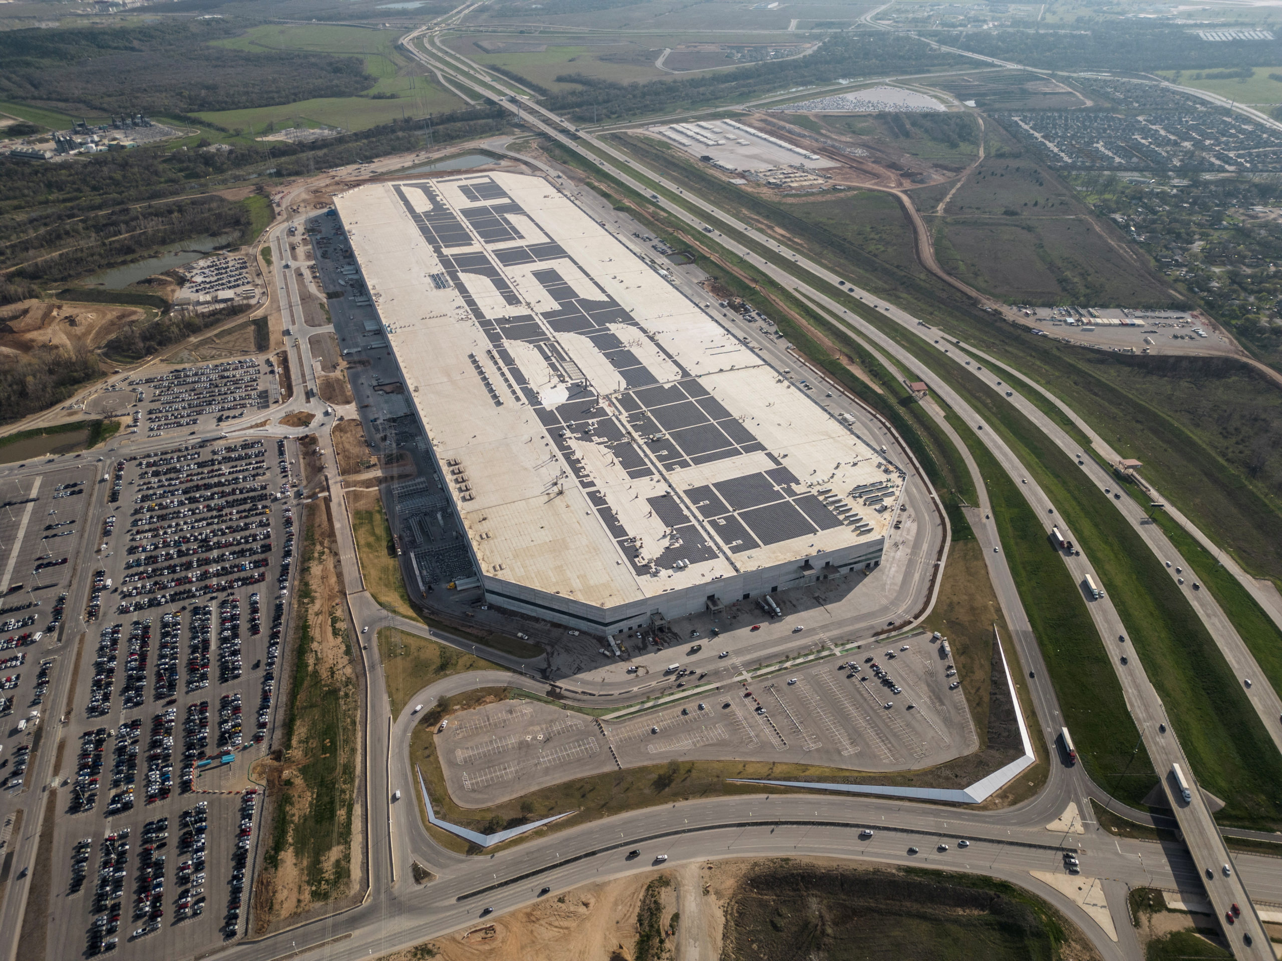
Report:
[[[88,630],[62,732],[53,957],[183,957],[244,929],[296,460],[292,442],[233,437],[101,465],[94,566],[67,600]]]

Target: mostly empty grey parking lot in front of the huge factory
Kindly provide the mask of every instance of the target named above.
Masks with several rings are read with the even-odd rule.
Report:
[[[626,719],[599,723],[520,700],[446,719],[436,744],[451,797],[464,807],[485,807],[549,784],[669,759],[885,773],[978,750],[956,671],[929,637],[751,680],[742,679],[733,655],[722,660],[715,675],[690,677],[695,693],[688,700]]]

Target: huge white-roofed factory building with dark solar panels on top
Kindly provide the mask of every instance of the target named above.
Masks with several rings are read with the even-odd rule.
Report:
[[[335,204],[490,604],[610,634],[879,563],[899,470],[546,179]]]

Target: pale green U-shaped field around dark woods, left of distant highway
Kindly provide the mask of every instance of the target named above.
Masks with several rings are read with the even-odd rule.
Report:
[[[360,131],[401,117],[426,117],[464,106],[454,94],[420,74],[417,67],[395,49],[400,31],[362,29],[326,24],[264,24],[245,36],[218,41],[221,46],[269,55],[272,50],[313,51],[341,56],[360,56],[365,72],[377,78],[374,86],[354,97],[319,97],[278,106],[245,110],[214,110],[199,117],[228,129],[255,136],[269,128],[341,127]],[[391,99],[370,99],[394,95]]]

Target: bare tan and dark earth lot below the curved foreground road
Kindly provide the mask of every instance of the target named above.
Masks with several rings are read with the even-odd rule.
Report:
[[[940,958],[976,957],[982,944],[990,961],[1003,961],[1042,956],[1037,948],[1047,947],[1047,923],[1067,935],[1059,957],[1099,957],[1081,930],[1027,892],[986,879],[923,875],[829,858],[728,860],[642,871],[549,894],[381,961],[635,961],[678,953],[782,961],[854,957],[849,948],[856,939],[862,958],[899,961],[932,949]],[[887,893],[892,888],[915,897],[896,899]],[[890,923],[869,925],[874,911]],[[905,930],[913,937],[905,938]]]

